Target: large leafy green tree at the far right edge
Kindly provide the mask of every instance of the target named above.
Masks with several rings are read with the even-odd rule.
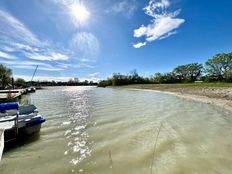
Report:
[[[212,79],[223,81],[231,79],[232,53],[215,55],[205,63],[206,72]]]

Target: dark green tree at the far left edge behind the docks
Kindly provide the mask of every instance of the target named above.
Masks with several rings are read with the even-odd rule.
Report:
[[[5,89],[11,84],[12,71],[11,69],[0,64],[0,88]]]

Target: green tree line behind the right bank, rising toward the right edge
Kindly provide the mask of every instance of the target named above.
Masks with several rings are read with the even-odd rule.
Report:
[[[120,86],[128,84],[159,84],[159,83],[188,83],[232,82],[232,53],[221,53],[208,59],[205,64],[190,63],[180,65],[168,73],[155,73],[151,77],[139,76],[136,70],[127,75],[113,73],[111,78],[98,83],[99,87]]]

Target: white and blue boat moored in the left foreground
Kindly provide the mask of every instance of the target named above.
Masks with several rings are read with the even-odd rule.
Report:
[[[19,106],[18,102],[0,104],[0,128],[4,129],[5,142],[38,133],[45,118],[35,105]]]

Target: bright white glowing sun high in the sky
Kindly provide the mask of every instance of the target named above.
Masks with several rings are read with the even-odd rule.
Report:
[[[70,7],[71,14],[79,23],[84,23],[90,16],[89,11],[83,4],[73,4]]]

